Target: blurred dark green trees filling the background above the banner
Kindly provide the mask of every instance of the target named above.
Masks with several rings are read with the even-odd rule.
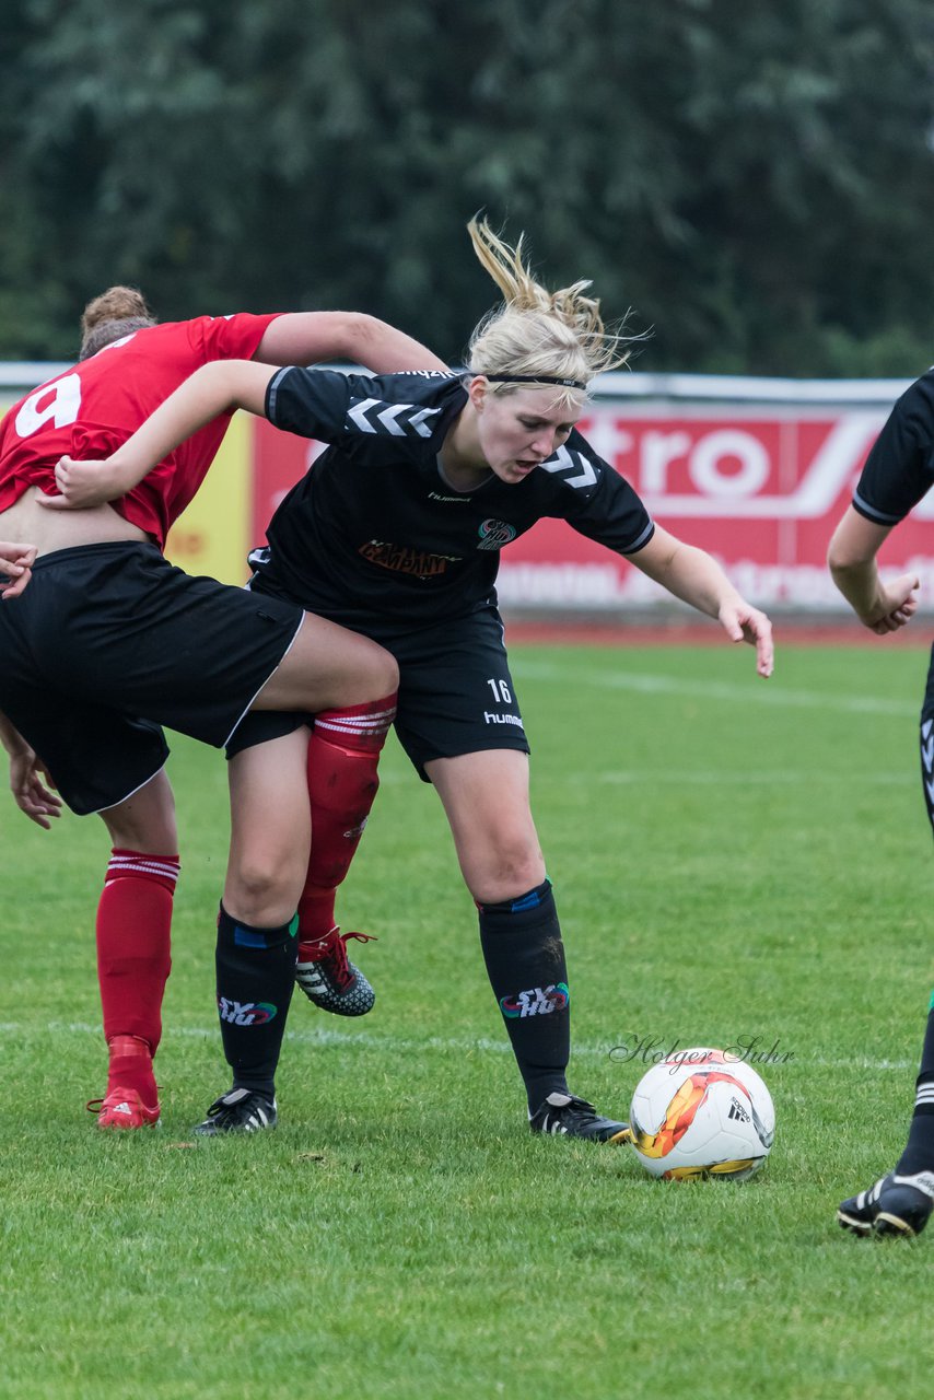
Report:
[[[527,230],[641,370],[934,358],[931,0],[4,0],[0,357],[84,301],[371,311],[448,358]]]

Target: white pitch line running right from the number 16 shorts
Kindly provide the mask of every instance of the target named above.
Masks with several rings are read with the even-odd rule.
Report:
[[[679,680],[676,676],[632,675],[625,671],[585,671],[580,666],[553,666],[548,662],[513,658],[515,676],[529,680],[559,680],[567,685],[595,686],[601,690],[633,690],[637,694],[688,696],[697,700],[739,700],[744,704],[787,706],[800,710],[836,710],[843,714],[920,715],[920,690],[916,703],[885,700],[881,696],[826,696],[816,690],[787,690],[780,680],[749,678],[748,686],[717,680]]]

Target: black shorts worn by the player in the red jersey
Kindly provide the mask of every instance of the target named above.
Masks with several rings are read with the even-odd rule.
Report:
[[[193,578],[154,545],[43,554],[0,603],[0,710],[73,812],[165,763],[161,725],[221,748],[288,651],[302,609]]]

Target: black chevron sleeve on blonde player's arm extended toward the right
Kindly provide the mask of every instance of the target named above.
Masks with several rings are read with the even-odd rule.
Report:
[[[655,525],[626,477],[598,456],[577,431],[571,433],[562,454],[573,463],[569,470],[556,473],[562,479],[560,515],[567,524],[616,554],[634,554],[647,545]]]

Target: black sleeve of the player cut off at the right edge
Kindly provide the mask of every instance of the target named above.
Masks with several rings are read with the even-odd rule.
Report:
[[[896,525],[931,486],[934,370],[916,379],[889,413],[863,468],[853,505],[877,525]]]

